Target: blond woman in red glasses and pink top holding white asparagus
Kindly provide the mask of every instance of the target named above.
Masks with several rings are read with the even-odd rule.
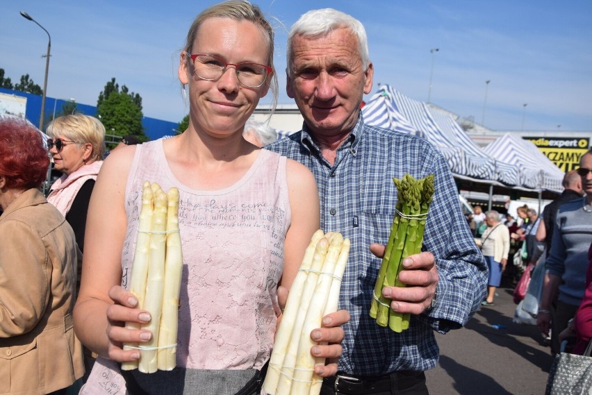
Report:
[[[113,151],[97,178],[74,326],[101,358],[83,394],[95,393],[92,383],[104,383],[105,377],[131,394],[259,393],[284,288],[319,227],[311,172],[242,137],[259,99],[270,87],[277,94],[273,31],[261,10],[247,1],[226,1],[198,15],[181,51],[179,81],[189,103],[188,129]],[[141,346],[152,335],[122,328],[124,322],[151,319],[126,291],[145,181],[180,193],[177,367],[122,372],[117,362],[140,358],[138,349],[124,350],[122,342]],[[347,312],[329,318],[332,328],[313,334],[319,341],[340,342],[338,325]],[[332,358],[341,348],[331,344],[313,351]],[[336,364],[315,370],[330,376]]]

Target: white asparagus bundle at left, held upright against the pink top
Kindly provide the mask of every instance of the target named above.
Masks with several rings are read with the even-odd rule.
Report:
[[[138,306],[151,314],[151,321],[141,328],[150,330],[152,339],[143,344],[124,344],[124,349],[140,350],[140,361],[124,362],[122,369],[137,368],[142,373],[154,373],[176,366],[183,271],[179,190],[172,187],[164,192],[160,185],[148,181],[142,187],[142,209],[129,290],[138,298]],[[139,329],[140,325],[126,323],[126,328]]]

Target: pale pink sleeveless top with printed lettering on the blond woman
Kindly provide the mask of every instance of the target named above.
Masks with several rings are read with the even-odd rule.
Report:
[[[183,278],[176,363],[261,369],[272,349],[283,240],[290,226],[286,158],[261,150],[235,185],[192,190],[168,166],[163,140],[138,145],[126,186],[122,285],[129,286],[142,184],[179,189]]]

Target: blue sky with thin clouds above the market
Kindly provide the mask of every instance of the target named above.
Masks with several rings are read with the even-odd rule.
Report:
[[[187,109],[176,77],[179,50],[192,19],[215,2],[7,1],[0,67],[13,82],[29,74],[43,85],[47,35],[23,10],[51,34],[48,96],[95,105],[115,77],[142,96],[145,116],[180,121]],[[427,101],[434,60],[431,102],[461,117],[500,131],[520,131],[523,120],[525,131],[592,131],[592,1],[254,3],[276,20],[279,103],[292,103],[282,72],[286,28],[306,10],[334,7],[365,25],[373,92],[388,83]]]

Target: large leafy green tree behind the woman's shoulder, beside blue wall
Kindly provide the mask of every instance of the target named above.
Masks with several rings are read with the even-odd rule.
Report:
[[[107,134],[120,137],[136,135],[142,141],[147,140],[142,126],[142,97],[129,92],[125,85],[120,90],[115,78],[111,78],[99,94],[97,117],[104,124]]]

